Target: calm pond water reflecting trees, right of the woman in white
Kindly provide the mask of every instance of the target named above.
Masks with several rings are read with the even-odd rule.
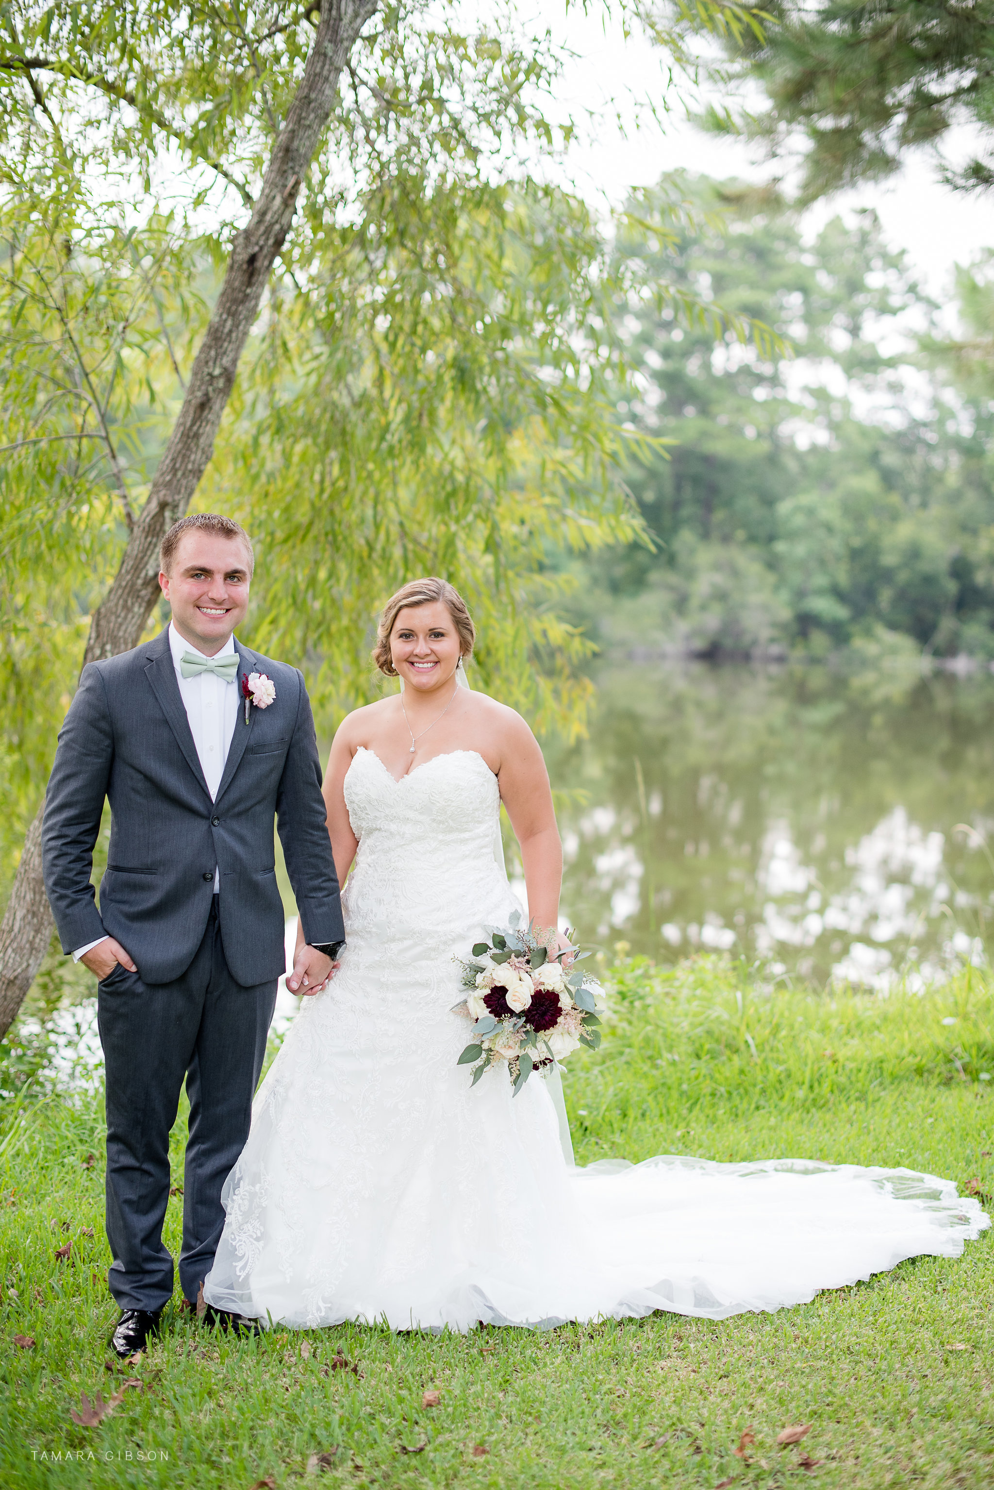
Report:
[[[589,738],[546,751],[585,945],[879,989],[985,961],[990,675],[653,665],[597,682]]]

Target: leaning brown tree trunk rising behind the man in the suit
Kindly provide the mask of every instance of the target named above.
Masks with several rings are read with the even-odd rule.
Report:
[[[95,611],[83,666],[137,647],[159,595],[159,544],[189,507],[214,451],[238,359],[259,313],[262,292],[296,210],[301,182],[327,124],[338,80],[378,0],[324,0],[301,86],[277,136],[259,200],[238,234],[214,313],[201,343],[176,426],[121,568]],[[7,909],[0,924],[0,1037],[6,1034],[52,936],[42,881],[42,817],[28,828]]]

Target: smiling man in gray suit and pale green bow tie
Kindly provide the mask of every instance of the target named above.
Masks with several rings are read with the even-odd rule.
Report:
[[[305,937],[287,986],[317,992],[344,937],[304,678],[232,635],[251,569],[248,535],[228,517],[185,517],[168,530],[159,584],[173,620],[147,645],[83,669],[48,787],[45,887],[62,951],[98,979],[122,1357],[146,1348],[173,1295],[162,1220],[185,1079],[180,1284],[190,1304],[223,1229],[220,1192],[248,1135],[284,970],[274,817]],[[222,1310],[208,1317],[247,1328]]]

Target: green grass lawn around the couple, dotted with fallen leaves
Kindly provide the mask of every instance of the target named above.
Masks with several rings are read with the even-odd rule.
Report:
[[[565,1080],[580,1164],[801,1155],[994,1189],[994,997],[975,971],[888,1000],[769,994],[714,960],[665,973],[622,963],[613,982],[604,1046]],[[341,1326],[231,1342],[170,1308],[146,1362],[110,1371],[101,1104],[54,1095],[21,1119],[3,1110],[3,1490],[250,1490],[302,1477],[481,1490],[711,1490],[805,1474],[860,1490],[994,1484],[991,1232],[960,1261],[917,1259],[799,1308],[719,1323],[661,1314],[469,1337]],[[180,1205],[170,1202],[174,1252]],[[98,1426],[73,1421],[82,1393],[107,1401],[129,1375],[138,1384]],[[778,1447],[787,1424],[811,1426]],[[738,1457],[747,1429],[754,1444]]]

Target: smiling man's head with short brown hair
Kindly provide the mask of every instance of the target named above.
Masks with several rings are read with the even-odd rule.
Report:
[[[159,574],[177,632],[207,657],[220,651],[246,618],[250,583],[241,539],[195,527],[180,538],[170,574]]]

